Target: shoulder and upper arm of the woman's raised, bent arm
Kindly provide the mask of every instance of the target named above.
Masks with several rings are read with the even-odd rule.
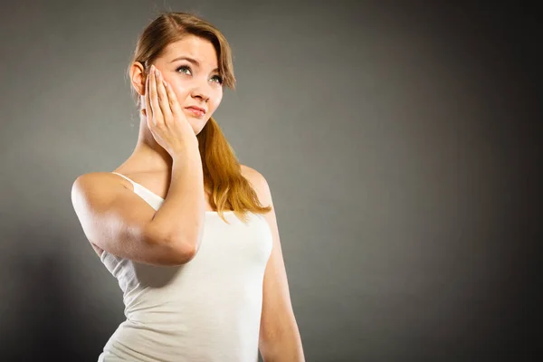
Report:
[[[176,245],[151,223],[155,209],[123,186],[118,176],[79,176],[71,187],[71,203],[85,236],[100,249],[136,262],[181,263]]]

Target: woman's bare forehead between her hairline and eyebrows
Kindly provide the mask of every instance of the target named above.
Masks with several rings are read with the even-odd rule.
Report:
[[[169,43],[161,58],[171,62],[180,56],[193,58],[205,68],[217,68],[217,53],[213,44],[195,35],[186,35],[181,40]]]

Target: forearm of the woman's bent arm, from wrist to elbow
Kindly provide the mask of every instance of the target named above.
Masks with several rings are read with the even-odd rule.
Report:
[[[173,157],[167,196],[151,223],[170,243],[197,250],[205,221],[202,160],[196,145]]]

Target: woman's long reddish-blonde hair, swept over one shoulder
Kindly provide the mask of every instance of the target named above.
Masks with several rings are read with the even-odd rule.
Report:
[[[213,43],[218,57],[223,85],[235,89],[232,52],[230,45],[214,25],[195,14],[169,12],[160,14],[148,24],[138,38],[132,62],[140,62],[148,72],[150,65],[161,55],[168,44],[195,35]],[[137,97],[137,106],[140,107]],[[209,202],[224,219],[224,211],[233,210],[243,222],[247,212],[264,214],[271,206],[262,206],[249,181],[242,176],[240,163],[235,157],[224,133],[211,117],[196,136],[204,171],[204,187],[210,195]]]

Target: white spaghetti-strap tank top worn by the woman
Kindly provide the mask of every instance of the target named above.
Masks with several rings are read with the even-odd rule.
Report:
[[[158,210],[160,196],[128,177],[134,192]],[[262,214],[243,224],[233,212],[205,213],[204,236],[184,265],[161,267],[103,252],[100,260],[119,281],[124,320],[99,362],[256,362],[262,281],[271,230]]]

